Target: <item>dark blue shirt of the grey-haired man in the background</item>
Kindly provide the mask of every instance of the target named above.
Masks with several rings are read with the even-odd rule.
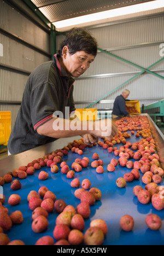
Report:
[[[122,95],[116,97],[112,114],[117,115],[118,117],[121,117],[122,115],[125,116],[125,115],[129,114],[126,111],[126,100]]]

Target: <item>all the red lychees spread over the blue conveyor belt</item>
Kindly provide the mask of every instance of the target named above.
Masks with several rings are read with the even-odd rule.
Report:
[[[95,144],[87,145],[83,138],[74,140],[63,149],[55,150],[50,154],[44,155],[43,158],[33,160],[27,166],[20,166],[12,172],[5,174],[0,178],[0,185],[5,183],[11,184],[13,195],[9,197],[8,203],[11,206],[21,203],[21,197],[15,194],[15,191],[21,189],[21,179],[26,179],[28,176],[33,176],[38,172],[38,179],[40,181],[49,178],[46,171],[42,171],[42,167],[50,168],[51,173],[59,172],[61,167],[61,174],[65,174],[67,178],[72,179],[71,187],[75,189],[74,196],[79,200],[79,204],[75,209],[72,205],[67,205],[65,201],[56,199],[53,191],[49,191],[46,187],[40,187],[39,191],[31,191],[27,195],[28,207],[32,211],[31,228],[33,232],[40,233],[48,229],[49,213],[56,212],[58,216],[54,223],[53,237],[43,236],[36,245],[54,245],[54,238],[57,240],[55,245],[102,245],[104,237],[107,234],[107,223],[102,219],[95,219],[90,223],[90,228],[83,234],[85,219],[90,217],[91,206],[96,201],[101,200],[101,190],[91,186],[89,179],[84,179],[81,182],[75,178],[75,173],[83,171],[89,164],[95,168],[96,172],[104,173],[103,161],[99,159],[99,155],[94,153],[92,155],[92,162],[89,158],[78,158],[74,160],[72,166],[68,166],[66,161],[63,161],[63,156],[68,155],[68,152],[73,154],[83,155],[86,147],[94,147],[98,144],[99,147],[106,149],[108,153],[113,153],[114,156],[119,156],[116,160],[113,158],[108,166],[108,172],[116,171],[118,166],[126,167],[130,172],[125,173],[124,177],[120,177],[116,181],[119,188],[126,187],[128,182],[133,182],[134,179],[140,179],[142,175],[142,182],[145,184],[145,189],[136,186],[133,193],[137,196],[138,201],[142,204],[151,203],[156,210],[164,209],[164,188],[158,186],[162,181],[163,170],[160,167],[160,157],[156,154],[155,141],[151,136],[151,130],[147,117],[131,117],[122,118],[116,121],[119,132],[112,139],[104,138],[104,141],[98,141]],[[128,133],[127,131],[131,131]],[[137,131],[134,135],[134,131]],[[131,136],[140,138],[136,143],[127,141]],[[116,147],[122,143],[123,146]],[[13,177],[15,178],[13,180]],[[80,187],[81,186],[81,187]],[[10,241],[9,237],[4,234],[12,228],[13,224],[22,224],[24,218],[20,211],[15,211],[10,214],[8,209],[3,206],[5,196],[0,199],[0,245],[24,245],[23,241]],[[161,228],[161,219],[155,214],[150,214],[145,220],[148,227],[152,230]],[[120,226],[125,231],[130,231],[134,226],[134,219],[131,216],[123,216],[120,219]]]

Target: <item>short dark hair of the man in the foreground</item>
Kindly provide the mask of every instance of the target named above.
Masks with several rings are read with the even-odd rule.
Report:
[[[74,27],[67,33],[58,51],[60,56],[62,55],[63,47],[66,45],[71,55],[75,54],[77,51],[85,51],[85,53],[95,57],[97,55],[97,41],[85,28]]]

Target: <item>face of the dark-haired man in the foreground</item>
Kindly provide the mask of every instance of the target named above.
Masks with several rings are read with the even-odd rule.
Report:
[[[78,78],[80,75],[84,74],[94,59],[95,56],[87,54],[85,51],[77,51],[77,53],[73,55],[69,54],[68,50],[63,53],[63,63],[69,73],[71,73],[71,75],[75,78]]]

